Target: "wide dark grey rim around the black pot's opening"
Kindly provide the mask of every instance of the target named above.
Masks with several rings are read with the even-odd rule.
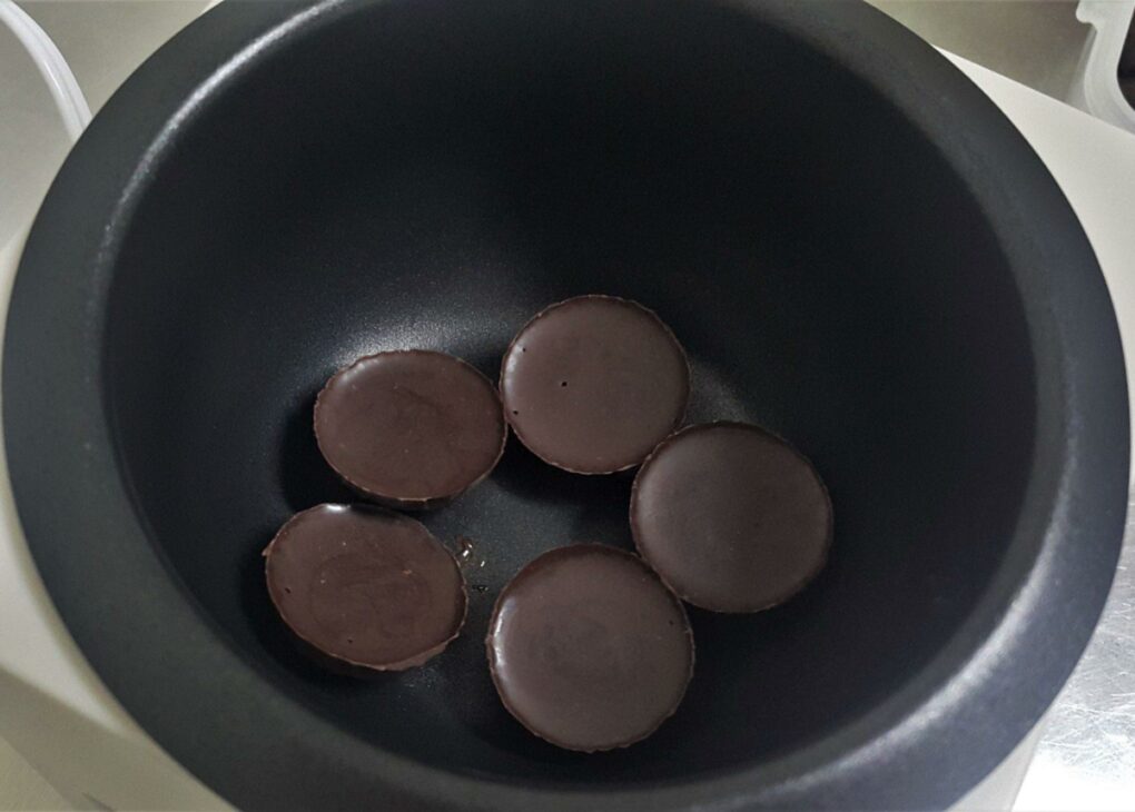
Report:
[[[666,785],[537,788],[389,753],[367,758],[354,736],[276,691],[148,541],[100,384],[104,314],[91,306],[107,298],[124,223],[178,130],[234,77],[354,7],[222,3],[127,81],[60,170],[16,279],[2,386],[20,521],[68,629],[142,727],[228,800],[494,810],[595,809],[615,797],[629,810],[945,806],[1000,763],[1070,674],[1119,553],[1129,431],[1115,314],[1075,214],[1000,110],[882,12],[839,2],[823,14],[815,3],[728,5],[806,41],[889,99],[966,181],[1010,259],[1036,366],[1036,441],[1022,518],[983,598],[931,663],[860,719],[759,767]],[[149,655],[138,658],[140,649]],[[203,746],[203,730],[227,746]],[[288,775],[335,776],[335,786]]]

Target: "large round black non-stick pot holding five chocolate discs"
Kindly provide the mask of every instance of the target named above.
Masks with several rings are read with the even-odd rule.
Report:
[[[678,714],[597,755],[512,720],[482,635],[541,550],[629,544],[625,477],[512,442],[426,517],[486,560],[465,633],[373,682],[294,650],[260,559],[350,498],[311,431],[338,366],[428,347],[491,375],[583,293],[656,308],[690,421],[791,438],[836,517],[798,599],[695,611]],[[1118,333],[1066,201],[977,88],[847,3],[225,3],[59,174],[3,403],[68,627],[244,806],[945,805],[1071,670],[1127,493]]]

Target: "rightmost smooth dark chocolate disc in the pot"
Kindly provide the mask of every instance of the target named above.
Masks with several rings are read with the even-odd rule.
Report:
[[[832,504],[812,463],[755,425],[683,429],[631,491],[642,558],[683,600],[722,612],[782,603],[823,568]]]

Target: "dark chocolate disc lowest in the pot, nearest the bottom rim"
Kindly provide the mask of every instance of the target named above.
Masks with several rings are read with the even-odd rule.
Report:
[[[486,641],[505,708],[568,750],[625,747],[678,708],[693,671],[681,602],[638,556],[546,552],[497,599]]]

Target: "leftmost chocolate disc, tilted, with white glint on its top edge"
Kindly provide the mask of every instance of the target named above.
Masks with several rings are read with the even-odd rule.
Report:
[[[420,666],[465,620],[457,563],[409,516],[319,505],[288,519],[263,555],[268,593],[284,623],[350,666]]]

